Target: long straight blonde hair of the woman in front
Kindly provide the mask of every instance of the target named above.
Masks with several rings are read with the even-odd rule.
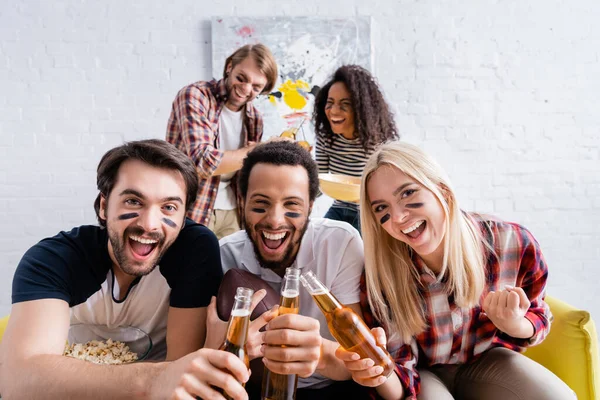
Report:
[[[445,216],[444,258],[440,276],[459,307],[473,307],[485,285],[484,241],[479,228],[456,202],[444,170],[418,147],[401,141],[382,145],[363,171],[360,196],[365,274],[369,304],[390,335],[410,338],[426,329],[420,276],[412,262],[412,249],[390,236],[371,208],[367,184],[381,167],[397,168],[431,191]]]

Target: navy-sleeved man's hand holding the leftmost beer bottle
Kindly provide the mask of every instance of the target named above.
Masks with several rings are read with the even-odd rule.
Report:
[[[236,400],[248,399],[242,383],[250,370],[237,356],[226,351],[200,349],[170,363],[151,387],[153,399],[225,399],[223,389]]]

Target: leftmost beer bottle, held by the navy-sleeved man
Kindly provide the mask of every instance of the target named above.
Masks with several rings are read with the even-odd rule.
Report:
[[[235,301],[229,317],[227,326],[227,336],[225,342],[219,347],[219,350],[228,351],[238,356],[246,367],[249,367],[248,353],[246,352],[246,337],[248,336],[248,325],[250,324],[250,304],[254,290],[245,287],[238,287],[235,293]],[[242,384],[243,385],[243,384]],[[223,391],[217,391],[226,399],[231,399]]]

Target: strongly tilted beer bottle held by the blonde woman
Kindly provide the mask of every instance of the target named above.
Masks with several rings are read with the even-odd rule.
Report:
[[[329,332],[340,346],[359,354],[360,358],[370,358],[375,365],[383,367],[383,376],[389,376],[394,371],[392,357],[386,349],[377,345],[362,318],[343,306],[312,271],[303,273],[300,281],[325,314]]]

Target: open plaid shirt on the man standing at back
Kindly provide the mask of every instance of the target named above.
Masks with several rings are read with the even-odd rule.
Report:
[[[199,177],[198,198],[188,211],[188,217],[208,225],[219,189],[219,176],[213,175],[223,150],[219,149],[219,116],[227,101],[225,80],[192,83],[181,89],[171,110],[167,126],[167,141],[191,157]],[[242,128],[243,146],[248,141],[259,142],[263,133],[263,120],[252,104],[246,105]],[[238,199],[238,219],[241,223],[241,198],[237,190],[237,173],[231,187]]]

